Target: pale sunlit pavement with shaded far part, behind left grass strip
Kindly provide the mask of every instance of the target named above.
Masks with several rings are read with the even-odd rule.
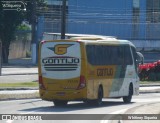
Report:
[[[38,80],[38,67],[30,58],[11,59],[3,64],[0,83],[32,82]]]

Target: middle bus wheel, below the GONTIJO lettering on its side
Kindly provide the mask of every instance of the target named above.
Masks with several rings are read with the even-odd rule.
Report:
[[[96,100],[94,100],[94,104],[96,106],[101,106],[102,105],[102,98],[103,98],[103,89],[102,89],[102,86],[100,86],[98,89],[98,97]]]

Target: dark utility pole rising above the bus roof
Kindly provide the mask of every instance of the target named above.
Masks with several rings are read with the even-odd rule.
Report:
[[[66,0],[62,0],[61,10],[61,39],[65,39],[66,33]]]

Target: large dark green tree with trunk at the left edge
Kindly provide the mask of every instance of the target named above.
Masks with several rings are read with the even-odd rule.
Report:
[[[14,1],[14,0],[10,0]],[[45,0],[23,0],[27,3],[27,11],[3,10],[2,0],[0,0],[0,40],[2,41],[2,59],[3,63],[8,63],[9,47],[11,41],[15,38],[15,31],[24,19],[32,22],[33,1],[36,5],[45,5]],[[36,13],[35,15],[36,16]]]

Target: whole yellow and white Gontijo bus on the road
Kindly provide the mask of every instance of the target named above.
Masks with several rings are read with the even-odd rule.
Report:
[[[136,48],[112,37],[41,41],[39,93],[55,106],[68,101],[102,104],[103,98],[131,102],[139,94]]]

